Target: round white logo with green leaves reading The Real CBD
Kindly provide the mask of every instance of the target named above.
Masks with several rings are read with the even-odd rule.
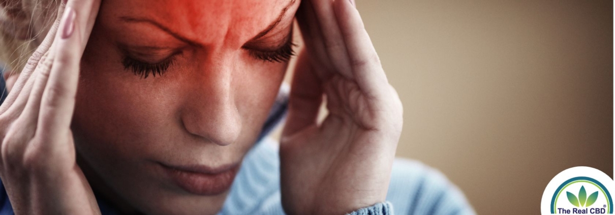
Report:
[[[542,193],[542,214],[613,214],[615,183],[595,168],[577,166],[557,174]]]

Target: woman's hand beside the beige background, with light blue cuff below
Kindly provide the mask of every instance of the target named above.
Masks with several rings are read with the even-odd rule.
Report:
[[[345,214],[386,200],[402,104],[349,0],[304,0],[305,49],[280,141],[288,214]],[[322,95],[328,115],[318,125]]]

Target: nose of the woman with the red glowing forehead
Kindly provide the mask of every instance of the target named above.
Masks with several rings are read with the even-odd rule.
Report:
[[[230,63],[230,62],[229,62]],[[234,143],[242,120],[234,101],[232,63],[208,65],[207,71],[195,72],[187,86],[181,120],[192,135],[220,146]]]

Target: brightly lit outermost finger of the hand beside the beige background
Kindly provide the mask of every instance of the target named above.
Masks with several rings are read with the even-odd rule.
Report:
[[[359,11],[348,0],[335,1],[335,15],[357,84],[371,98],[387,95],[389,82]]]

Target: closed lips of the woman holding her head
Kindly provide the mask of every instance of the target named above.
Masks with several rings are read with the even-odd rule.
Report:
[[[164,165],[169,177],[189,193],[197,195],[220,195],[231,188],[239,163],[210,167],[205,165]]]

